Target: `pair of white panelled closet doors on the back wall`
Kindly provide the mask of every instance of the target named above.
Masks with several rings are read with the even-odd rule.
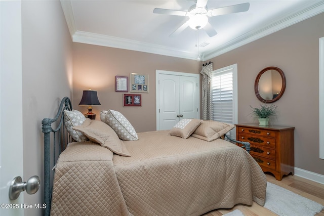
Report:
[[[171,129],[183,118],[199,118],[199,75],[157,74],[156,129]],[[171,72],[170,72],[171,73]],[[180,75],[181,74],[181,75]]]

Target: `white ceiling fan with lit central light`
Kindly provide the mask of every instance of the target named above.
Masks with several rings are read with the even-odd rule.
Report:
[[[169,10],[162,8],[154,8],[155,14],[167,14],[175,16],[189,17],[189,20],[176,29],[170,36],[176,36],[181,33],[188,26],[192,29],[204,29],[206,33],[212,37],[217,34],[213,26],[208,22],[208,17],[214,17],[219,15],[238,13],[248,11],[250,3],[243,3],[238,5],[227,6],[223,8],[207,9],[208,0],[197,0],[196,4],[191,6],[188,11]]]

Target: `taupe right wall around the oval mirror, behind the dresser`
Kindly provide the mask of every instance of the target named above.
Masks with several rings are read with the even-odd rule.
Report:
[[[295,126],[295,166],[324,175],[319,159],[318,39],[324,36],[324,13],[211,59],[214,69],[238,66],[238,122],[252,122],[251,106],[259,71],[279,67],[287,78],[285,94],[274,104],[274,124]],[[322,133],[322,132],[321,132]]]

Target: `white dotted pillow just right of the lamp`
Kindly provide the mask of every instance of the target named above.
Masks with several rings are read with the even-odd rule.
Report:
[[[138,140],[137,133],[132,124],[123,114],[114,110],[103,110],[100,112],[101,121],[105,122],[116,132],[119,139],[126,141]]]

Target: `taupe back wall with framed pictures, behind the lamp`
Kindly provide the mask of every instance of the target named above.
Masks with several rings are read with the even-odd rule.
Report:
[[[73,43],[73,108],[79,107],[83,90],[98,91],[101,106],[93,106],[96,119],[100,110],[113,109],[125,115],[137,132],[155,131],[155,70],[199,73],[201,63],[195,60],[154,55],[136,51]],[[149,75],[149,93],[142,93],[142,107],[123,107],[123,93],[115,92],[115,76],[130,73]],[[130,94],[130,92],[129,92]]]

